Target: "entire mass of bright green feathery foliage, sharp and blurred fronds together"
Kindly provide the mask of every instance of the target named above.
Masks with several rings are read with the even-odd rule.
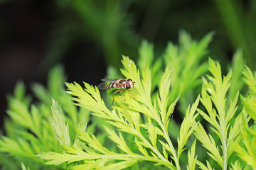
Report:
[[[203,63],[212,35],[197,42],[181,32],[179,45],[170,42],[158,58],[142,42],[138,64],[122,58],[122,77],[136,82],[134,99],[115,94],[112,108],[112,98],[87,83],[66,83],[66,93],[59,66],[47,89],[33,84],[37,103],[18,83],[0,140],[3,169],[253,169],[256,74],[243,69],[249,94],[242,96],[240,50],[226,76],[218,62]]]

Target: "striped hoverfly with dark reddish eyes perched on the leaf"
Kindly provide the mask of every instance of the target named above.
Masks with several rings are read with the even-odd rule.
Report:
[[[104,81],[104,82],[97,85],[98,89],[105,89],[105,90],[119,89],[119,90],[117,90],[113,93],[113,102],[112,102],[112,105],[110,107],[112,107],[113,103],[114,103],[114,94],[117,94],[118,92],[120,92],[122,94],[122,91],[124,91],[124,90],[126,90],[127,93],[129,94],[128,89],[131,89],[134,86],[134,83],[135,83],[131,79],[102,79],[102,81]],[[110,81],[110,84],[105,86],[105,81]],[[122,96],[124,97],[123,94],[122,94]],[[134,99],[134,97],[131,94],[129,94],[129,96],[131,96]],[[124,97],[124,101],[125,101],[125,97]]]

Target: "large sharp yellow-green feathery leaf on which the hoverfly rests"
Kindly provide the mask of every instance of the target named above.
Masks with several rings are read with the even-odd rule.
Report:
[[[122,98],[117,97],[116,101],[119,107],[114,106],[110,110],[102,100],[100,91],[94,86],[85,83],[85,89],[83,89],[76,83],[66,84],[69,93],[75,96],[73,100],[76,102],[76,105],[90,110],[97,117],[104,118],[107,120],[107,123],[110,123],[119,131],[117,133],[115,129],[105,127],[110,140],[117,145],[119,152],[113,152],[104,147],[95,135],[78,130],[78,138],[85,142],[86,147],[78,149],[66,146],[63,148],[65,149],[63,154],[48,152],[40,154],[38,157],[47,159],[47,164],[63,164],[81,160],[85,163],[75,165],[72,167],[73,169],[124,169],[136,162],[142,161],[161,164],[169,169],[181,169],[179,158],[188,137],[196,128],[195,119],[198,115],[198,113],[196,114],[196,108],[199,98],[186,111],[178,137],[178,149],[176,149],[168,133],[170,115],[173,113],[178,99],[170,105],[167,104],[171,84],[170,67],[166,67],[165,72],[161,76],[157,98],[151,101],[151,75],[149,68],[144,70],[141,79],[141,75],[132,60],[129,60],[128,57],[123,57],[122,63],[124,69],[121,72],[124,74],[124,77],[129,77],[136,82],[134,87],[136,98],[133,100],[126,94],[127,100],[124,101]],[[54,102],[53,105],[55,105]],[[60,108],[53,107],[53,113],[61,113]],[[141,120],[141,114],[145,116],[146,120]],[[146,132],[142,132],[143,130],[146,130]],[[62,132],[63,135],[58,136],[68,135],[68,132],[65,130],[62,130]],[[137,145],[137,150],[132,150],[129,147],[134,142],[127,143],[123,135],[124,133],[132,135]],[[161,147],[158,147],[159,145]],[[196,165],[194,152],[193,146],[193,150],[188,154],[188,158],[191,160],[191,164],[189,164],[191,169]],[[171,156],[172,161],[169,161],[169,156]],[[91,164],[92,162],[94,164]]]

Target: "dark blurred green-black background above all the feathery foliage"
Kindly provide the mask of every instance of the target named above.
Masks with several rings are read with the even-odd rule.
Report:
[[[228,68],[240,47],[255,69],[253,0],[1,0],[1,125],[6,94],[17,80],[45,84],[48,69],[62,63],[68,81],[97,85],[107,66],[121,67],[122,55],[136,61],[142,40],[153,42],[161,57],[158,52],[177,42],[179,30],[194,39],[214,31],[210,57]]]

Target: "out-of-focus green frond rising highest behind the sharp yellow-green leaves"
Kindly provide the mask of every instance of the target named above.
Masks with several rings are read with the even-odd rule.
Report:
[[[186,112],[196,96],[194,91],[201,85],[201,76],[207,72],[206,55],[207,47],[213,37],[213,32],[208,33],[199,42],[192,40],[191,35],[185,31],[179,34],[179,45],[169,42],[164,53],[164,62],[171,67],[171,101],[180,98],[180,111]],[[198,92],[199,93],[199,92]]]

